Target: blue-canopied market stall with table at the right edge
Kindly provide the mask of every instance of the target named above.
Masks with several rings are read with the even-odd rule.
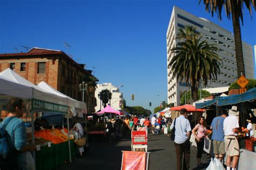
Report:
[[[232,105],[236,105],[239,110],[239,125],[240,127],[246,127],[246,119],[250,119],[253,123],[256,123],[253,116],[252,109],[256,109],[256,88],[250,89],[243,94],[231,95],[226,97],[217,97],[212,101],[196,104],[196,108],[209,108],[212,105],[216,108],[218,113],[222,109],[231,109]],[[249,113],[252,117],[249,116]],[[255,114],[255,113],[254,113]],[[248,138],[245,134],[239,135],[238,141],[240,145],[240,158],[238,163],[239,169],[254,169],[255,162],[245,164],[247,158],[256,158],[256,138]],[[212,141],[210,140],[210,144]],[[207,151],[207,150],[205,150]],[[208,153],[212,153],[212,150],[208,150]]]

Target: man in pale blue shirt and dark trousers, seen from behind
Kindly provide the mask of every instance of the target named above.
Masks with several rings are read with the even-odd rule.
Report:
[[[174,146],[176,150],[177,169],[190,169],[190,122],[185,118],[186,109],[180,110],[180,116],[176,118]],[[173,121],[174,122],[174,121]],[[173,129],[174,123],[171,124]],[[183,157],[184,154],[184,157]],[[182,160],[182,157],[184,158]],[[182,165],[183,162],[183,165]]]

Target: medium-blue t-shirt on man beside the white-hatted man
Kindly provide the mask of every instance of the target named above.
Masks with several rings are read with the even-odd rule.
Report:
[[[212,140],[224,141],[224,130],[223,130],[223,122],[224,117],[215,117],[212,120]]]

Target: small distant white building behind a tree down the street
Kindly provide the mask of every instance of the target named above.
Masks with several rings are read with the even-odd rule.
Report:
[[[100,91],[104,89],[108,89],[112,93],[112,98],[107,104],[110,104],[113,109],[122,110],[123,93],[119,92],[118,87],[123,86],[113,86],[112,83],[97,84],[97,88],[95,90],[95,97],[97,99],[97,106],[95,107],[96,112],[104,108],[104,105],[99,98]]]

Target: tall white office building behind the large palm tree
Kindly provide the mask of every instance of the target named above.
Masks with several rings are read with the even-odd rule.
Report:
[[[191,13],[173,6],[170,23],[166,33],[167,45],[167,67],[170,64],[173,54],[171,55],[170,49],[176,47],[178,40],[176,39],[179,28],[184,28],[186,25],[196,27],[196,31],[203,34],[203,40],[208,41],[210,44],[217,44],[219,48],[219,56],[222,59],[220,65],[220,74],[218,80],[213,80],[208,83],[208,87],[225,87],[230,86],[237,77],[237,62],[235,60],[235,46],[234,36],[231,32],[223,29],[210,22],[205,18],[198,18]],[[253,52],[252,46],[246,42],[242,42],[242,51],[244,54],[245,75],[248,79],[254,77],[253,66]],[[180,104],[180,98],[185,90],[189,90],[185,83],[180,83],[176,77],[172,76],[171,69],[167,68],[167,97],[168,103],[174,105]]]

